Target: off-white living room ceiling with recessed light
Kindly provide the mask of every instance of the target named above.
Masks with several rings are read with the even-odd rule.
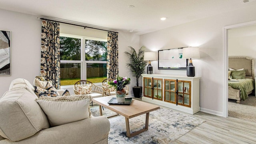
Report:
[[[0,9],[140,35],[256,4],[256,0],[248,1],[0,0]],[[167,19],[161,21],[161,17]]]

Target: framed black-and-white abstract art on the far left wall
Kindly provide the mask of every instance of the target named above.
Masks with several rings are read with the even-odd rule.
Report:
[[[11,32],[0,30],[0,76],[11,75]]]

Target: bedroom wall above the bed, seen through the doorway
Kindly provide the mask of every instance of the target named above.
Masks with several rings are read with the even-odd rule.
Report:
[[[248,56],[256,60],[256,25],[228,30],[228,56]],[[256,68],[256,63],[254,69]],[[254,70],[256,76],[256,70]]]

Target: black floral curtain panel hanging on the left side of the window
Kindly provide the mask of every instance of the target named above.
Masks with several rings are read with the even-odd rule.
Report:
[[[60,24],[42,20],[41,76],[60,89]]]

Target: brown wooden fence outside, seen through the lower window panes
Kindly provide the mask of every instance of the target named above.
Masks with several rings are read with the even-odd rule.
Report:
[[[60,78],[80,78],[80,68],[60,68]],[[86,68],[86,77],[104,77],[107,75],[106,68]]]

